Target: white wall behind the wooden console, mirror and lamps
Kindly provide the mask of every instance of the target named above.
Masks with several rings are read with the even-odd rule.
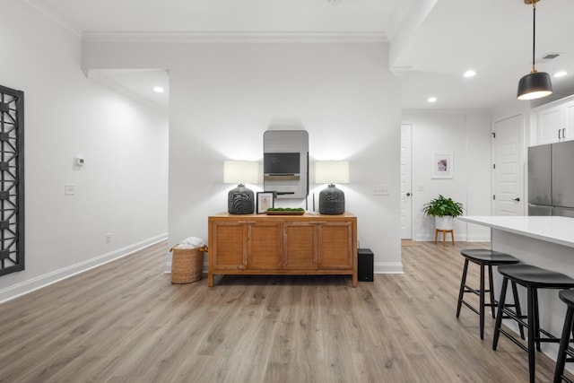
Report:
[[[206,239],[207,216],[227,210],[224,160],[260,160],[266,129],[304,128],[313,161],[351,161],[340,187],[361,247],[400,272],[400,83],[387,63],[373,43],[83,43],[84,69],[170,70],[170,244]],[[390,196],[372,196],[381,184]]]

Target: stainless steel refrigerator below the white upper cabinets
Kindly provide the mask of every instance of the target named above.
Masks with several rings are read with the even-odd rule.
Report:
[[[574,141],[528,148],[528,215],[574,218]]]

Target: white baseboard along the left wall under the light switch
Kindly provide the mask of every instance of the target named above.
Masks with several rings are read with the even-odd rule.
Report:
[[[57,283],[75,274],[83,273],[99,265],[104,265],[121,257],[126,257],[137,250],[146,248],[167,238],[167,233],[162,233],[155,237],[144,239],[124,248],[118,248],[117,250],[110,251],[109,253],[102,254],[98,257],[93,257],[75,265],[69,265],[51,273],[39,275],[36,278],[29,279],[22,283],[16,283],[12,286],[0,290],[0,303],[6,300],[13,300],[14,298],[20,297],[35,290],[39,290],[42,287],[46,287],[52,283]]]

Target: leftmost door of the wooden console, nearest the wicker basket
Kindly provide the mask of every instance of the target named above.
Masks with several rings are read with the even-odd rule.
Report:
[[[213,222],[213,264],[220,269],[245,269],[247,265],[247,224],[245,222]]]

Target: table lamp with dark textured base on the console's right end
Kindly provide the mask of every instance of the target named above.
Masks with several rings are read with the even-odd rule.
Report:
[[[335,187],[349,183],[349,161],[315,162],[315,183],[329,186],[319,193],[319,213],[336,215],[344,213],[344,192]]]

